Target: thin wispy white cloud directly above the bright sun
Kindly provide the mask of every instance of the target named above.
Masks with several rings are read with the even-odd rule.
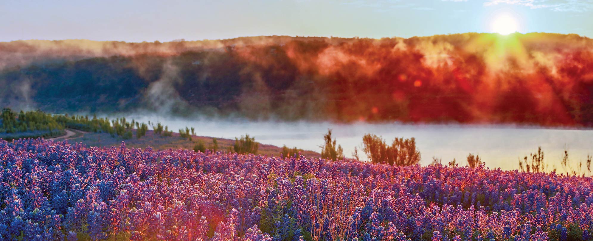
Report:
[[[531,9],[547,8],[557,12],[586,12],[593,8],[593,0],[486,0],[484,2],[484,6],[498,4],[521,5]]]

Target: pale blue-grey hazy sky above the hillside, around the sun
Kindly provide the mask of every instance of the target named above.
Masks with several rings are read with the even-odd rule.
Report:
[[[593,0],[0,0],[0,41],[170,41],[240,36],[412,37],[518,31],[593,37]]]

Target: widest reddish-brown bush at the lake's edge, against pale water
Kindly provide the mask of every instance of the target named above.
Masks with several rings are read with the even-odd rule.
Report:
[[[420,152],[416,139],[396,138],[388,146],[380,136],[365,134],[362,137],[363,151],[372,163],[388,163],[396,166],[416,165],[420,162]]]

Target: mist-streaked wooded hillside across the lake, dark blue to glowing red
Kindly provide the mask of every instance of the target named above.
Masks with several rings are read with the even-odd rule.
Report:
[[[0,43],[0,105],[314,121],[593,125],[593,40],[563,34]]]

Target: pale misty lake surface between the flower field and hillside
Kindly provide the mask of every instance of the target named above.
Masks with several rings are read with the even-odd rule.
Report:
[[[115,117],[115,116],[114,116]],[[257,142],[275,146],[298,147],[299,149],[320,152],[323,135],[333,129],[333,137],[342,145],[344,154],[352,156],[355,147],[361,159],[362,136],[366,133],[382,136],[388,144],[395,137],[415,137],[416,146],[422,153],[422,165],[428,165],[432,158],[441,158],[448,163],[454,158],[460,165],[466,165],[468,153],[479,154],[486,166],[505,170],[517,169],[518,158],[537,152],[541,146],[545,160],[556,165],[559,171],[564,150],[575,163],[585,162],[586,156],[593,155],[593,130],[551,129],[515,126],[476,126],[458,124],[402,124],[402,123],[317,123],[248,121],[231,119],[189,119],[163,117],[159,115],[128,115],[136,121],[162,124],[178,132],[180,128],[195,127],[199,136],[234,139],[244,134],[255,137]],[[550,165],[550,166],[551,166]],[[584,165],[585,166],[585,165]]]

